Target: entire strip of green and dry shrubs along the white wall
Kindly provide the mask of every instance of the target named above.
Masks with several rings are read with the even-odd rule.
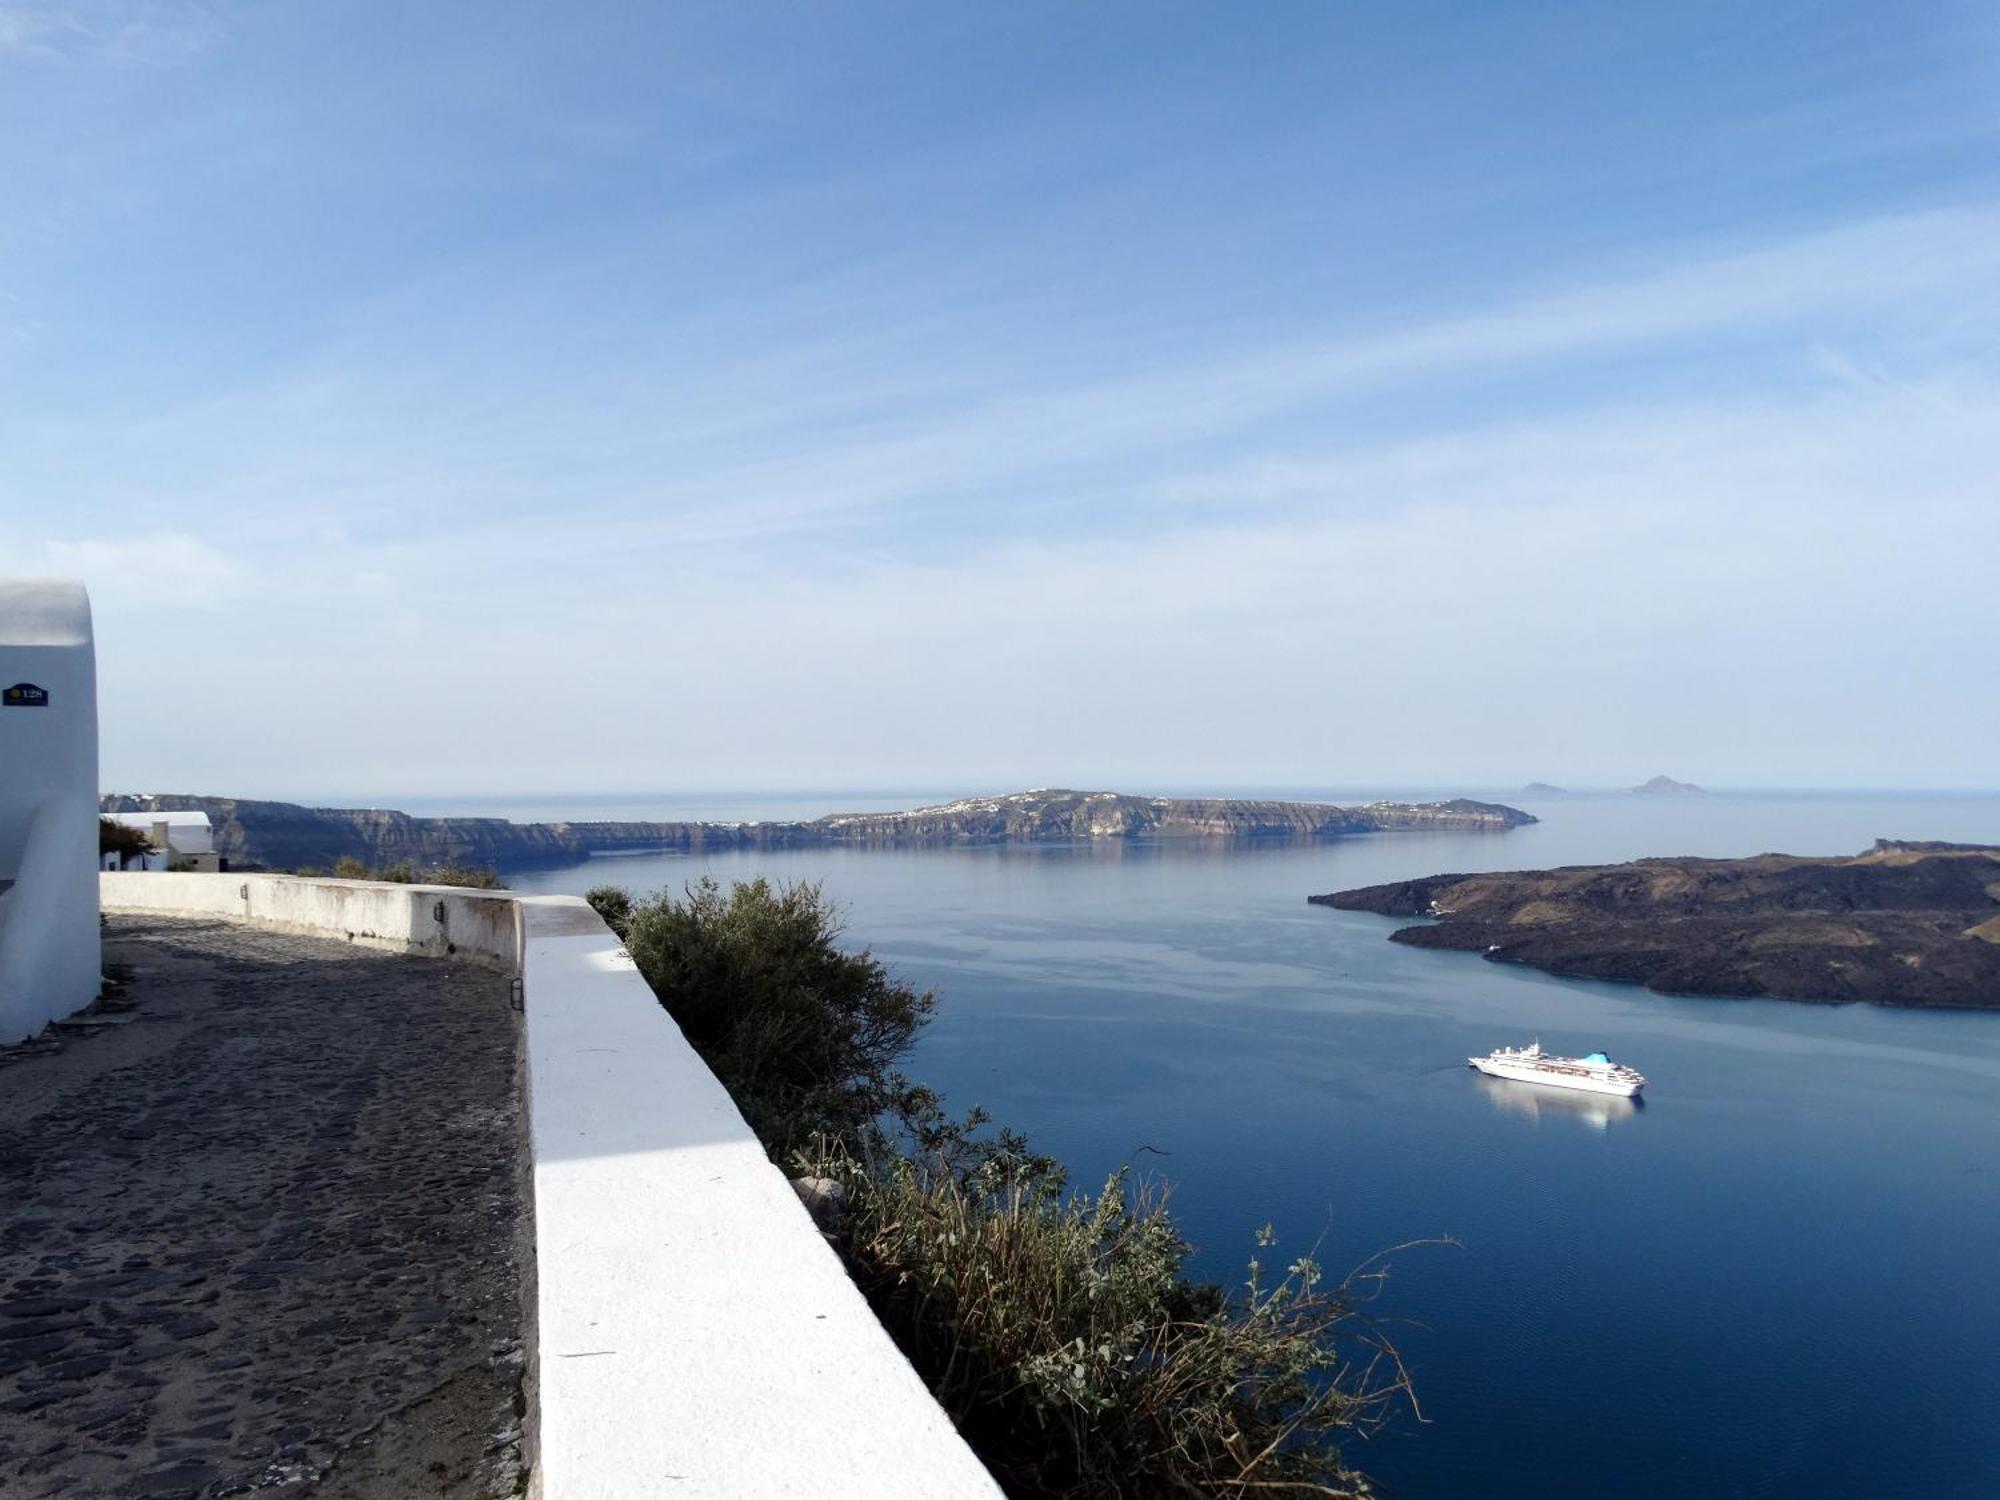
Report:
[[[1336,1440],[1408,1394],[1360,1312],[1384,1260],[1338,1286],[1312,1256],[1252,1260],[1234,1294],[1190,1282],[1164,1192],[1120,1172],[1070,1194],[1020,1134],[894,1072],[934,996],[840,952],[818,886],[588,900],[766,1148],[844,1188],[828,1238],[1008,1494],[1368,1494]]]

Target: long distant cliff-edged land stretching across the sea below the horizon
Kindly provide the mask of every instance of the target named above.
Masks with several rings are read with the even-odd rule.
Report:
[[[480,864],[512,870],[572,864],[590,854],[694,848],[812,848],[826,844],[1006,844],[1100,838],[1328,838],[1396,830],[1502,832],[1534,818],[1496,802],[1256,802],[1038,790],[964,798],[908,812],[836,812],[810,822],[508,822],[412,818],[380,808],[304,808],[228,796],[104,798],[106,812],[208,814],[216,852],[268,868]]]

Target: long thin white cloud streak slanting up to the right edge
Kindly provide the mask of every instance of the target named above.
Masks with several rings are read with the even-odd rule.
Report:
[[[2000,210],[1890,216],[1376,334],[1210,352],[1178,368],[1000,394],[920,430],[664,482],[652,498],[688,540],[768,536],[840,512],[964,504],[1122,454],[1182,452],[1342,398],[1504,382],[1564,362],[1668,350],[1702,358],[1742,340],[1826,348],[1850,328],[1872,340],[1916,338],[1926,362],[1982,360],[2000,328],[1996,286]],[[1574,398],[1592,404],[1588,390]],[[1078,484],[1088,494],[1088,478]]]

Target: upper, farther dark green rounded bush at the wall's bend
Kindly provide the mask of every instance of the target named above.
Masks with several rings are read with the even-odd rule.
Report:
[[[618,910],[594,894],[600,912]],[[934,1006],[838,936],[812,884],[752,880],[724,894],[704,878],[624,918],[640,974],[778,1156],[816,1134],[858,1140],[892,1108],[908,1088],[892,1064]]]

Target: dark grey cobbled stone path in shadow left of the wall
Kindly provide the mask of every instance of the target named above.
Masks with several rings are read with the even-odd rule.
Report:
[[[0,1048],[0,1496],[506,1496],[508,980],[112,918],[114,1024]]]

